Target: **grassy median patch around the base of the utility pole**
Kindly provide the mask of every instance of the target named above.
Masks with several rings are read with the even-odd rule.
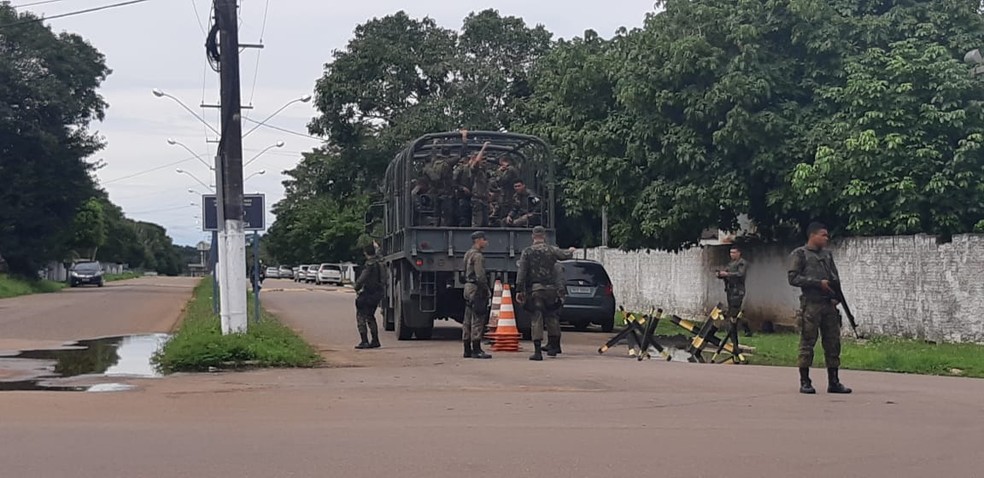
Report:
[[[260,322],[252,322],[253,307],[250,297],[246,334],[222,335],[219,317],[212,312],[212,281],[203,280],[178,332],[154,355],[154,364],[163,373],[174,373],[210,367],[313,367],[321,362],[313,347],[273,315],[261,311]]]

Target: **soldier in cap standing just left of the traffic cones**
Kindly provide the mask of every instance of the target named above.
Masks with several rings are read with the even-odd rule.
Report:
[[[472,248],[465,253],[465,320],[461,324],[461,340],[465,344],[465,358],[487,359],[491,355],[482,350],[482,332],[489,318],[489,278],[485,273],[485,255],[488,245],[485,233],[472,233]]]

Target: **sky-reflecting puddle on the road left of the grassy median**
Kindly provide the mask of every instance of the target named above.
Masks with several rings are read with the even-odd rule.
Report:
[[[83,340],[54,350],[25,350],[3,360],[37,361],[43,367],[32,380],[0,382],[0,391],[110,392],[133,387],[119,383],[61,385],[53,379],[79,376],[157,378],[150,359],[170,338],[167,334],[130,335]],[[35,370],[42,370],[35,368]]]

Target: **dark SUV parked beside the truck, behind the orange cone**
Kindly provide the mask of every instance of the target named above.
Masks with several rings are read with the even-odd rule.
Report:
[[[560,261],[567,285],[567,299],[560,321],[585,330],[598,324],[605,332],[615,328],[615,294],[612,280],[601,263],[583,259]]]

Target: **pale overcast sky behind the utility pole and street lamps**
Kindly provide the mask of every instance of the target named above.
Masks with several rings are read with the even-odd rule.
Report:
[[[22,10],[51,16],[117,1],[55,0]],[[180,146],[168,145],[167,139],[187,145],[211,162],[215,145],[206,143],[206,137],[216,135],[176,102],[157,98],[151,91],[160,88],[181,99],[218,129],[217,110],[199,107],[203,100],[218,103],[218,74],[207,68],[203,46],[202,28],[209,25],[210,3],[151,0],[48,22],[56,32],[85,37],[106,55],[113,70],[101,90],[110,104],[106,120],[92,126],[108,143],[96,155],[107,163],[98,173],[101,184],[128,217],[164,226],[176,244],[192,245],[208,237],[196,224],[201,207],[191,205],[200,203],[200,198],[188,189],[199,194],[210,191],[175,169],[188,171],[206,185],[214,181],[205,164]],[[457,29],[468,13],[495,8],[503,15],[521,16],[528,24],[543,24],[555,38],[579,36],[589,28],[609,37],[620,26],[641,26],[653,0],[241,0],[241,5],[240,42],[259,43],[262,33],[265,45],[263,50],[241,55],[242,102],[254,106],[244,114],[262,120],[287,102],[313,93],[332,50],[344,48],[356,25],[373,17],[403,9]],[[294,103],[269,124],[306,134],[306,125],[315,115],[311,103]],[[252,124],[244,122],[243,127],[248,131]],[[319,144],[304,135],[260,128],[244,140],[244,161],[278,141],[286,144],[269,150],[244,171],[244,176],[266,171],[250,178],[245,192],[264,193],[268,207],[283,197],[281,172],[297,164],[300,152]],[[268,227],[274,219],[267,215]]]

